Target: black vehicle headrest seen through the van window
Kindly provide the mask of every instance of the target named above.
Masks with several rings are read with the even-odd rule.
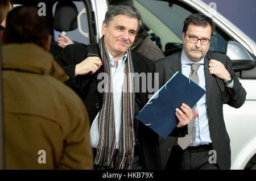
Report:
[[[60,1],[54,14],[54,29],[56,31],[72,31],[77,28],[78,11],[72,1]]]

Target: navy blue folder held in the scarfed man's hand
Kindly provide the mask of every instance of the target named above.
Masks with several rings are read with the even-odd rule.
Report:
[[[177,71],[148,100],[146,106],[136,116],[136,119],[142,121],[142,123],[158,133],[159,136],[166,139],[179,123],[175,115],[176,108],[180,109],[182,103],[192,108],[205,92],[197,83]]]

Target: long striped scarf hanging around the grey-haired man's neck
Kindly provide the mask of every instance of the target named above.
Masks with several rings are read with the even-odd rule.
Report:
[[[97,154],[94,163],[99,169],[131,169],[134,154],[134,69],[131,59],[131,50],[127,50],[125,62],[125,78],[122,87],[122,113],[121,127],[119,132],[119,149],[115,153],[115,119],[113,101],[113,82],[111,65],[108,52],[104,44],[104,36],[98,42],[100,47],[102,64],[105,77],[103,105],[98,119],[98,142]],[[115,165],[114,158],[117,154]]]

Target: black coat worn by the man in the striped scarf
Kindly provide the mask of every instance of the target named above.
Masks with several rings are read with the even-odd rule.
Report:
[[[85,60],[87,57],[87,52],[88,51],[85,44],[68,45],[61,52],[60,56],[56,57],[56,60],[68,74],[69,79],[66,82],[67,85],[72,87],[72,89],[75,90],[80,98],[84,101],[86,109],[89,113],[90,125],[92,125],[94,118],[102,108],[103,93],[100,93],[97,90],[98,83],[100,83],[102,80],[97,79],[97,76],[99,73],[104,72],[104,66],[101,66],[101,68],[94,74],[78,75],[75,77],[75,66],[76,64],[79,64],[81,61]],[[98,55],[100,55],[99,49]],[[140,74],[155,72],[154,62],[133,50],[131,50],[131,56],[133,58],[135,73]],[[102,60],[101,56],[100,59]],[[139,82],[139,86],[140,88],[138,90],[142,90],[142,82]],[[137,113],[139,113],[139,111],[147,103],[148,94],[148,91],[140,91],[135,93],[135,115],[137,115]],[[143,165],[146,167],[146,169],[164,169],[165,165],[162,165],[162,159],[160,158],[158,134],[136,119],[134,127],[135,135],[139,141]],[[170,135],[184,136],[187,131],[186,128],[187,127],[184,127],[183,129],[175,129]]]

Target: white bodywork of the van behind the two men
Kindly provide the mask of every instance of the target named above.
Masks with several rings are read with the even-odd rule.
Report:
[[[256,44],[254,40],[250,39],[249,36],[243,33],[232,22],[217,11],[214,11],[212,7],[203,1],[180,0],[180,2],[212,18],[219,28],[232,37],[234,41],[241,44],[247,52],[250,52],[251,57],[255,60]],[[133,3],[135,4],[135,1],[133,1]],[[92,5],[94,11],[97,12],[97,39],[99,39],[102,36],[101,26],[108,2],[104,0],[92,0]],[[143,15],[142,18],[144,18]],[[143,22],[147,22],[147,20],[143,19]],[[254,72],[255,71],[254,69]],[[226,129],[231,140],[231,169],[245,169],[246,164],[251,158],[255,157],[256,153],[256,77],[250,79],[240,78],[240,82],[247,92],[246,101],[243,106],[235,109],[224,105]]]

